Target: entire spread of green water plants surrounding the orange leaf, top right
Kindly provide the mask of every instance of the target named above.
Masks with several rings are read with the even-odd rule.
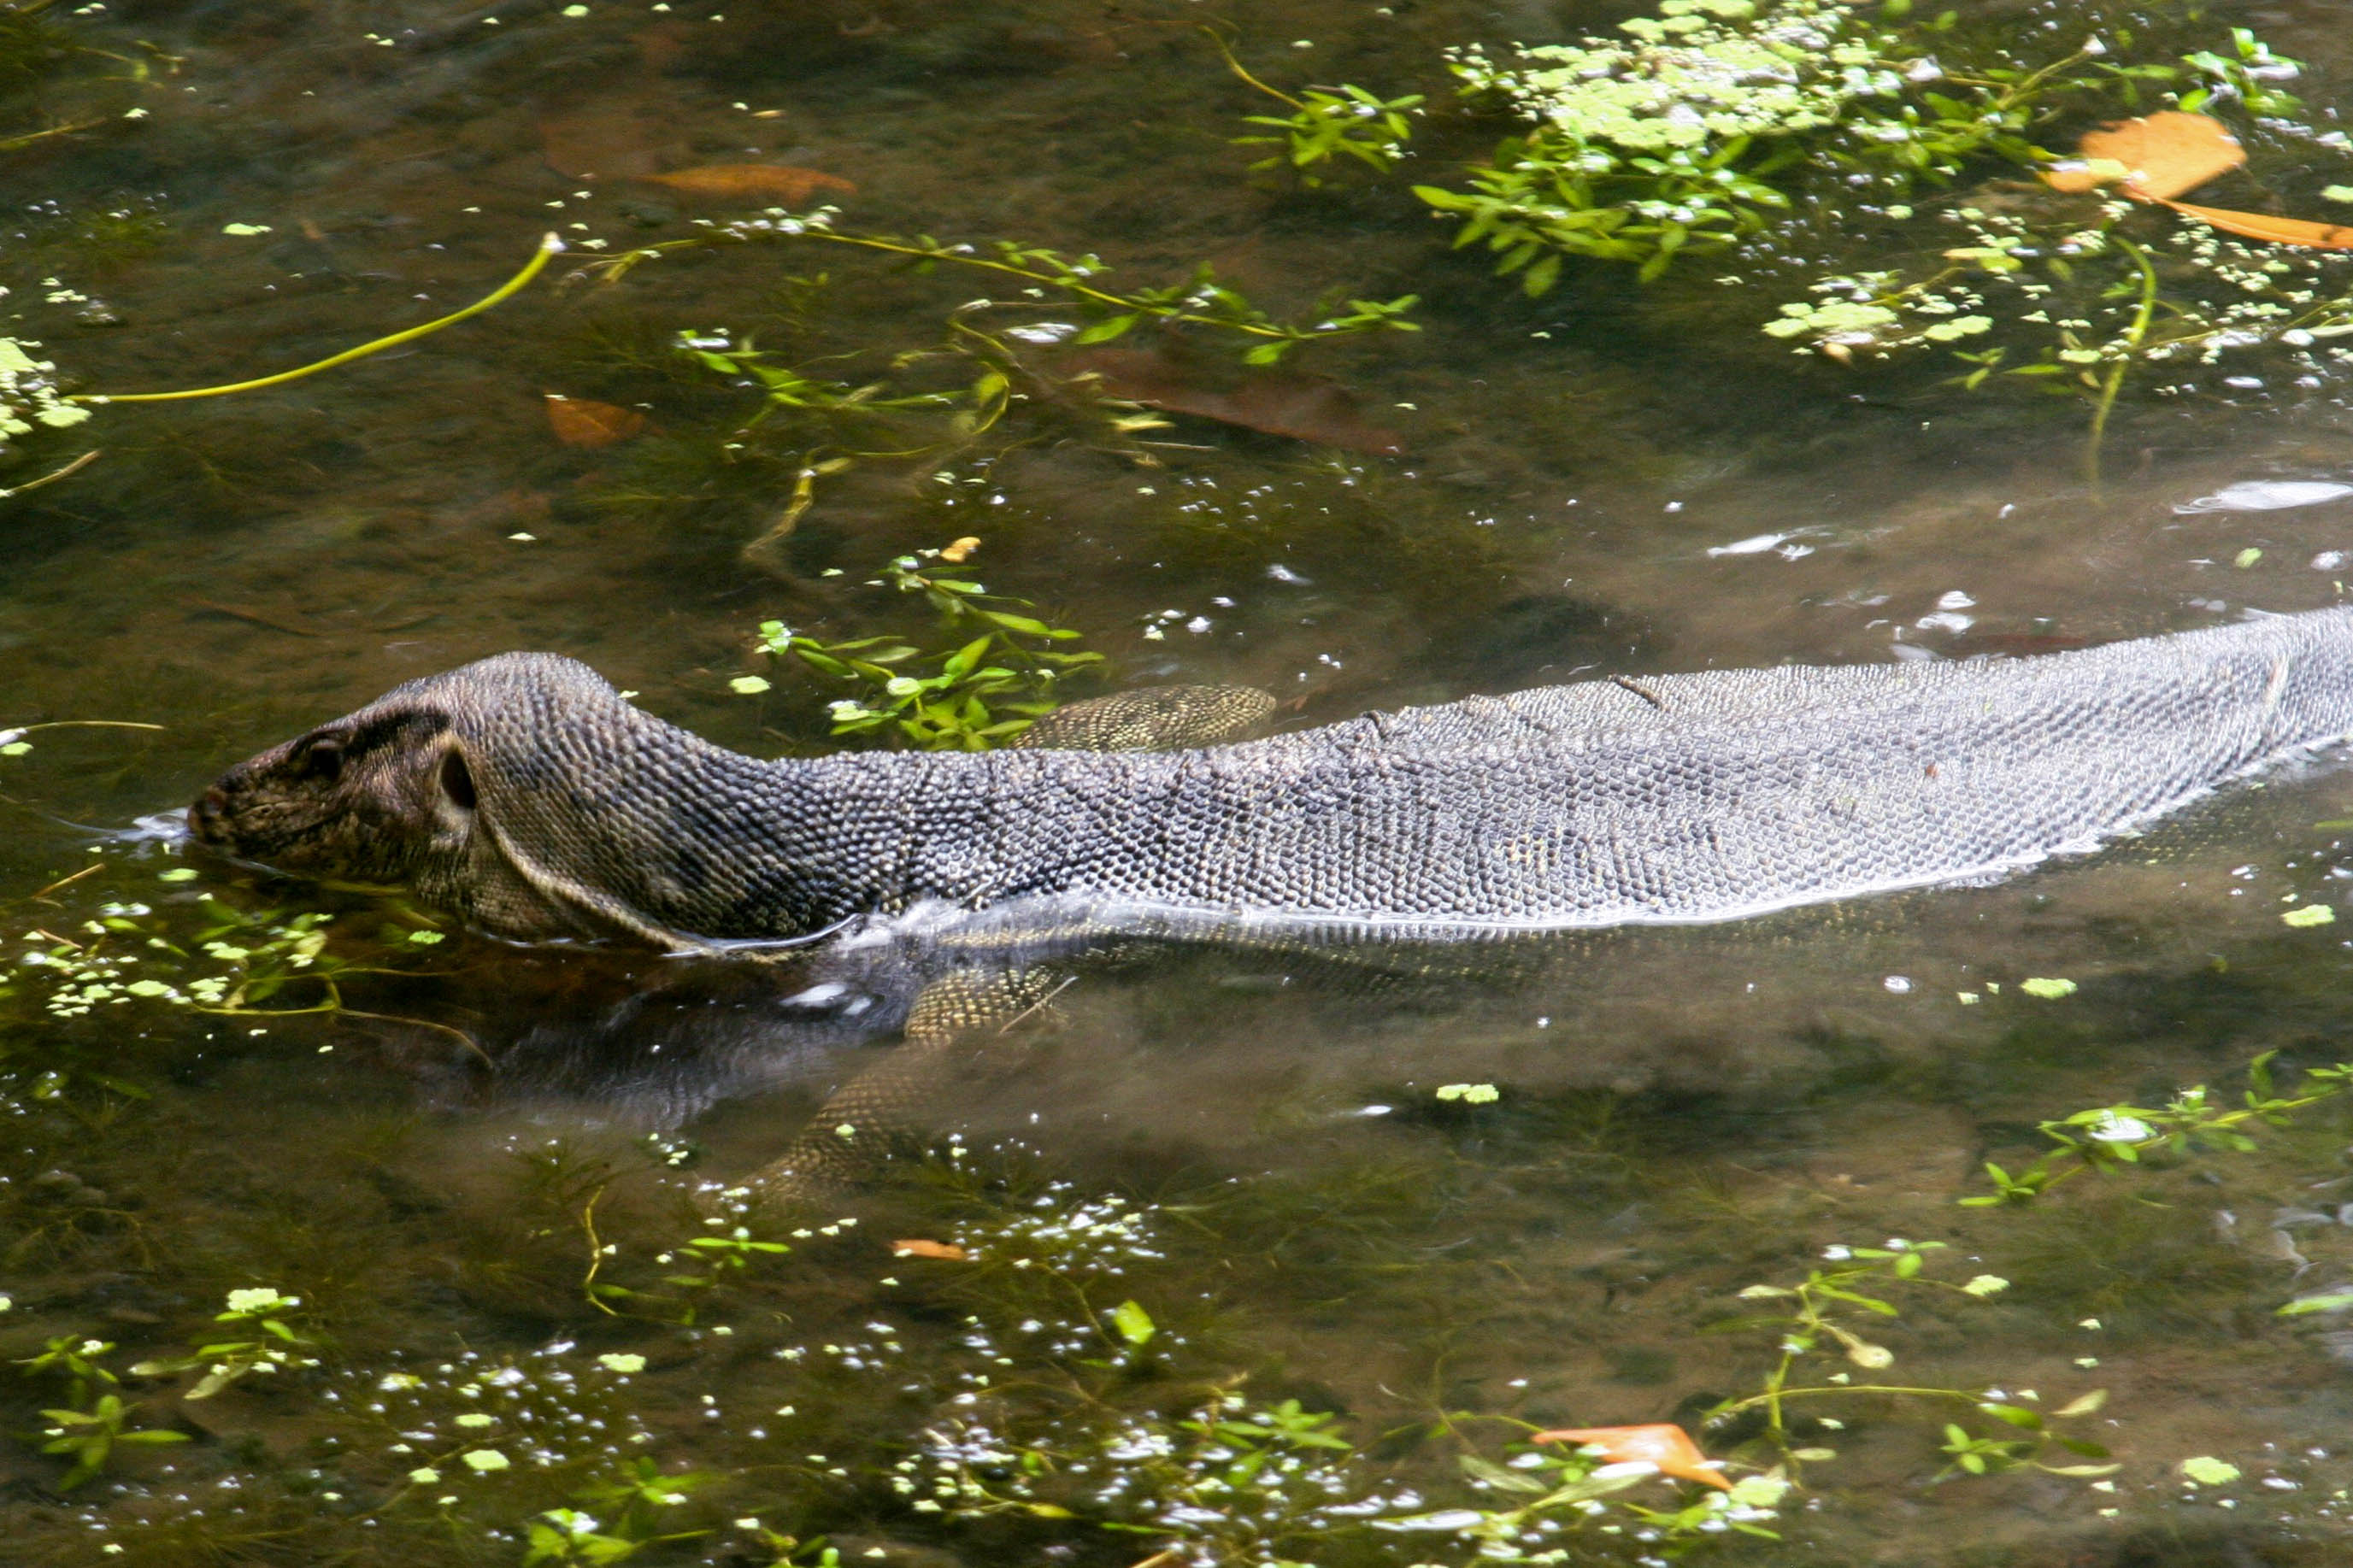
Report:
[[[1758,322],[1765,334],[1849,367],[1944,350],[1962,362],[1948,386],[2080,397],[2097,477],[2134,376],[2177,371],[2160,395],[2202,390],[2200,371],[2226,390],[2266,376],[2320,388],[2348,357],[2325,341],[2353,331],[2353,263],[2329,237],[2344,230],[2177,216],[2155,200],[2167,193],[2129,181],[2134,200],[2019,183],[2068,167],[2099,120],[2169,108],[2224,115],[2214,134],[2228,125],[2306,200],[2353,188],[2353,143],[2297,120],[2304,103],[2282,87],[2304,66],[2247,28],[2172,54],[2158,42],[2198,26],[2092,14],[2087,38],[2038,52],[2035,33],[1915,14],[1911,0],[1664,0],[1619,24],[1621,38],[1457,49],[1464,103],[1527,129],[1468,165],[1468,190],[1414,195],[1529,296],[1572,261],[1628,263],[1645,282],[1706,263],[1741,289],[1814,270]],[[1292,118],[1254,122],[1287,132],[1311,181],[1334,158],[1393,169],[1419,103],[1358,85],[1275,96]],[[2313,190],[2315,165],[2334,169],[2327,193]]]

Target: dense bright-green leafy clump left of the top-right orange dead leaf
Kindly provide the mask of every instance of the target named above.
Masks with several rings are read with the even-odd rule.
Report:
[[[1529,129],[1468,169],[1471,190],[1414,193],[1461,216],[1457,247],[1487,244],[1527,294],[1548,292],[1565,256],[1659,277],[1760,235],[1795,195],[1842,209],[1974,167],[2038,169],[2054,155],[2033,136],[2066,110],[2118,113],[2158,89],[2186,108],[2297,108],[2271,85],[2294,61],[2245,31],[2231,54],[2108,59],[2094,38],[2035,63],[2012,54],[2009,33],[1977,42],[1951,12],[1913,19],[1908,0],[1875,16],[1847,0],[1664,0],[1619,28],[1626,40],[1522,47],[1511,61],[1452,56],[1471,101]]]

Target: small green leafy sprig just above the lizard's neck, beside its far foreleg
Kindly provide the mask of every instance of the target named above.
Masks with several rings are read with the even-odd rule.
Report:
[[[1064,651],[1078,639],[1064,625],[1024,614],[1026,599],[993,595],[981,583],[951,576],[979,548],[962,538],[941,550],[918,550],[887,562],[868,588],[918,595],[958,639],[953,649],[920,649],[889,635],[819,642],[781,621],[760,623],[760,654],[793,658],[833,679],[854,682],[859,696],[831,705],[835,736],[896,729],[920,750],[979,752],[1019,736],[1061,703],[1061,682],[1101,654]],[[939,562],[939,564],[934,564]],[[974,635],[976,632],[976,635]],[[734,682],[741,693],[769,689],[765,677]]]

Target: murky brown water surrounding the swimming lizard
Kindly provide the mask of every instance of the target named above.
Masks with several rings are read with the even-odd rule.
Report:
[[[1259,5],[1245,56],[1282,82],[1428,87],[1445,45],[1600,26],[1553,5],[1395,12]],[[2334,7],[2252,19],[2341,59]],[[991,590],[1085,630],[1120,682],[1254,682],[1299,722],[1577,672],[2026,651],[2311,609],[2353,552],[2353,505],[2327,491],[2353,465],[2337,388],[2127,402],[2092,494],[2057,400],[1882,395],[1784,362],[1697,289],[1645,303],[1595,273],[1527,303],[1402,197],[1252,188],[1226,136],[1268,101],[1179,5],[59,21],[108,56],[21,92],[0,129],[96,129],[7,155],[0,306],[94,390],[238,381],[431,320],[548,228],[680,237],[725,207],[631,176],[736,162],[854,181],[831,195],[866,230],[1096,249],[1136,287],[1212,261],[1278,313],[1325,287],[1419,292],[1426,331],[1313,362],[1405,456],[1184,421],[1146,433],[1179,444],[1139,465],[1028,409],[1002,456],[941,456],[955,484],[861,458],[800,520],[784,576],[739,550],[791,475],[722,461],[748,402],[668,339],[725,327],[871,378],[998,280],[784,247],[666,259],[327,376],[26,442],[7,484],[104,456],[0,503],[0,724],[160,729],[38,731],[0,759],[0,1352],[106,1342],[89,1354],[127,1425],[186,1441],[122,1448],[64,1493],[68,1458],[38,1441],[68,1422],[42,1410],[94,1410],[113,1385],[9,1373],[7,1429],[38,1436],[0,1448],[0,1559],[518,1563],[602,1535],[671,1537],[647,1563],[767,1563],[816,1561],[781,1540],[826,1535],[852,1563],[1459,1563],[1475,1542],[1452,1528],[1311,1519],[1301,1497],[1499,1509],[1522,1493],[1466,1488],[1464,1453],[1504,1460],[1532,1427],[1699,1429],[1777,1361],[1779,1331],[1741,1319],[1788,1298],[1739,1291],[1894,1237],[1946,1244],[1925,1279],[2009,1286],[1889,1284],[1901,1316],[1840,1326],[1894,1363],[1824,1340],[1798,1382],[2000,1389],[2045,1413],[2106,1389],[2052,1425],[2120,1469],[1939,1479],[1946,1420],[2028,1432],[1969,1399],[1807,1396],[1791,1446],[1835,1458],[1800,1460],[1779,1544],[1706,1537],[1720,1561],[2341,1561],[2341,1319],[2275,1314],[2353,1276],[2334,1105],[2254,1152],[1958,1206],[1991,1192],[1984,1159],[2033,1161],[2042,1119],[2188,1084],[2235,1105],[2264,1051],[2341,1056],[2346,945],[2278,919],[2353,867],[2334,766],[2026,879],[1729,929],[1473,959],[1125,954],[948,1065],[929,1154],[748,1213],[758,1194],[727,1192],[896,1060],[889,973],[414,943],[431,914],[398,900],[224,865],[165,879],[186,865],[169,846],[118,837],[261,745],[515,646],[586,658],[727,745],[814,750],[835,693],[755,661],[753,628],[925,630],[859,583],[965,534]],[[1433,134],[1452,158],[1489,132]],[[824,289],[786,282],[819,270]],[[565,447],[546,393],[647,404],[649,430]],[[729,691],[758,670],[774,691]],[[301,912],[336,917],[308,966]],[[101,938],[104,919],[132,929]],[[207,952],[207,931],[249,957]],[[92,945],[141,957],[111,985],[285,973],[245,1001],[287,1016],[56,1004],[52,976]],[[341,1013],[301,1011],[322,969]],[[2035,978],[2075,990],[2024,992]],[[739,1222],[793,1251],[729,1246]],[[254,1288],[299,1307],[214,1321]],[[294,1342],[249,1326],[268,1312]],[[249,1354],[129,1373],[224,1342],[289,1363],[195,1401],[207,1366]],[[1313,1490],[1322,1472],[1285,1481],[1292,1502],[1264,1476],[1219,1490],[1257,1439],[1181,1422],[1224,1392],[1228,1415],[1332,1413],[1360,1446],[1339,1493]],[[1734,1474],[1777,1462],[1753,1415],[1701,1441]],[[2193,1483],[2184,1460],[2238,1479]],[[673,1479],[631,1500],[614,1488],[638,1462]],[[1628,1500],[1678,1507],[1659,1481],[1607,1505]],[[1289,1533],[1252,1547],[1285,1507]],[[1614,1512],[1522,1547],[1638,1561],[1661,1549],[1645,1528]]]

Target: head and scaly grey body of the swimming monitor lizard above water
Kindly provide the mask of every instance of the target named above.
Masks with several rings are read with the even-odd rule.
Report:
[[[506,654],[261,752],[191,823],[525,940],[708,950],[925,912],[1475,938],[2014,870],[2346,733],[2353,609],[2042,658],[1584,682],[1174,752],[760,762],[569,658]]]

